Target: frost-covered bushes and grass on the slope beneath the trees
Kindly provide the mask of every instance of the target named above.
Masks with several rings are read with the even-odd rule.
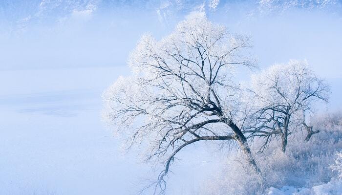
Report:
[[[338,172],[331,172],[330,165],[335,164],[336,152],[342,148],[342,113],[315,116],[308,122],[320,133],[304,142],[305,130],[300,129],[290,134],[288,149],[285,153],[278,152],[280,140],[270,143],[263,153],[255,153],[257,163],[263,173],[263,179],[251,174],[239,155],[230,157],[218,168],[220,173],[213,173],[210,182],[203,186],[203,195],[262,195],[270,187],[283,186],[307,187],[321,185],[337,178]],[[258,151],[260,143],[254,140],[252,150]],[[342,153],[336,159],[342,163]],[[335,169],[342,171],[342,164]],[[340,172],[341,173],[341,172]],[[340,174],[341,176],[341,174]],[[232,179],[234,178],[234,179]]]

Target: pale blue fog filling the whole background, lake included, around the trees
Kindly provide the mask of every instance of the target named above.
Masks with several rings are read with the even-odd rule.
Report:
[[[318,112],[341,110],[341,2],[213,2],[0,2],[0,194],[125,195],[153,178],[101,121],[101,94],[130,74],[126,60],[142,34],[161,39],[194,12],[250,35],[260,69],[306,59],[331,85]],[[227,154],[197,148],[172,165],[171,194],[192,194]]]

